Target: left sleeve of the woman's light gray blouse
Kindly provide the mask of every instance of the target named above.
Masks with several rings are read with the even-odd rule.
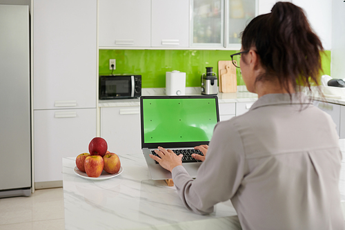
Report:
[[[233,197],[242,182],[244,167],[242,140],[236,128],[231,122],[220,122],[197,178],[193,180],[183,166],[177,166],[172,170],[172,180],[188,209],[207,214],[218,202]]]

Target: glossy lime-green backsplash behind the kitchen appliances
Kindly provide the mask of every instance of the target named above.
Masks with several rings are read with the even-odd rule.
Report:
[[[116,59],[113,73],[141,75],[143,88],[166,87],[166,72],[186,73],[186,87],[200,86],[206,67],[213,67],[218,75],[218,61],[231,60],[237,50],[99,50],[99,75],[110,75],[109,59]],[[331,75],[331,51],[322,55],[322,68]],[[244,85],[237,69],[237,85]]]

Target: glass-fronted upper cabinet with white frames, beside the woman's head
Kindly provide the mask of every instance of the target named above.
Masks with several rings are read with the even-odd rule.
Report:
[[[190,6],[193,47],[239,50],[241,32],[257,15],[257,0],[192,0]]]

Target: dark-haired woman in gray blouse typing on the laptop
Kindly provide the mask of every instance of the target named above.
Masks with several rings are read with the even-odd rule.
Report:
[[[206,214],[230,199],[242,229],[344,229],[335,124],[298,91],[318,83],[322,50],[292,3],[250,21],[239,66],[257,102],[219,122],[209,147],[195,147],[207,151],[195,180],[172,151],[159,147],[161,158],[151,156],[172,172],[188,209]]]

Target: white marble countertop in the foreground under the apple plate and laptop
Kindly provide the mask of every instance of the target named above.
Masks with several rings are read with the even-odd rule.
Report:
[[[345,139],[339,190],[345,213]],[[66,229],[240,229],[230,201],[210,215],[195,214],[181,202],[175,186],[149,180],[141,153],[119,155],[124,171],[108,180],[75,174],[75,157],[63,158],[63,200]]]

